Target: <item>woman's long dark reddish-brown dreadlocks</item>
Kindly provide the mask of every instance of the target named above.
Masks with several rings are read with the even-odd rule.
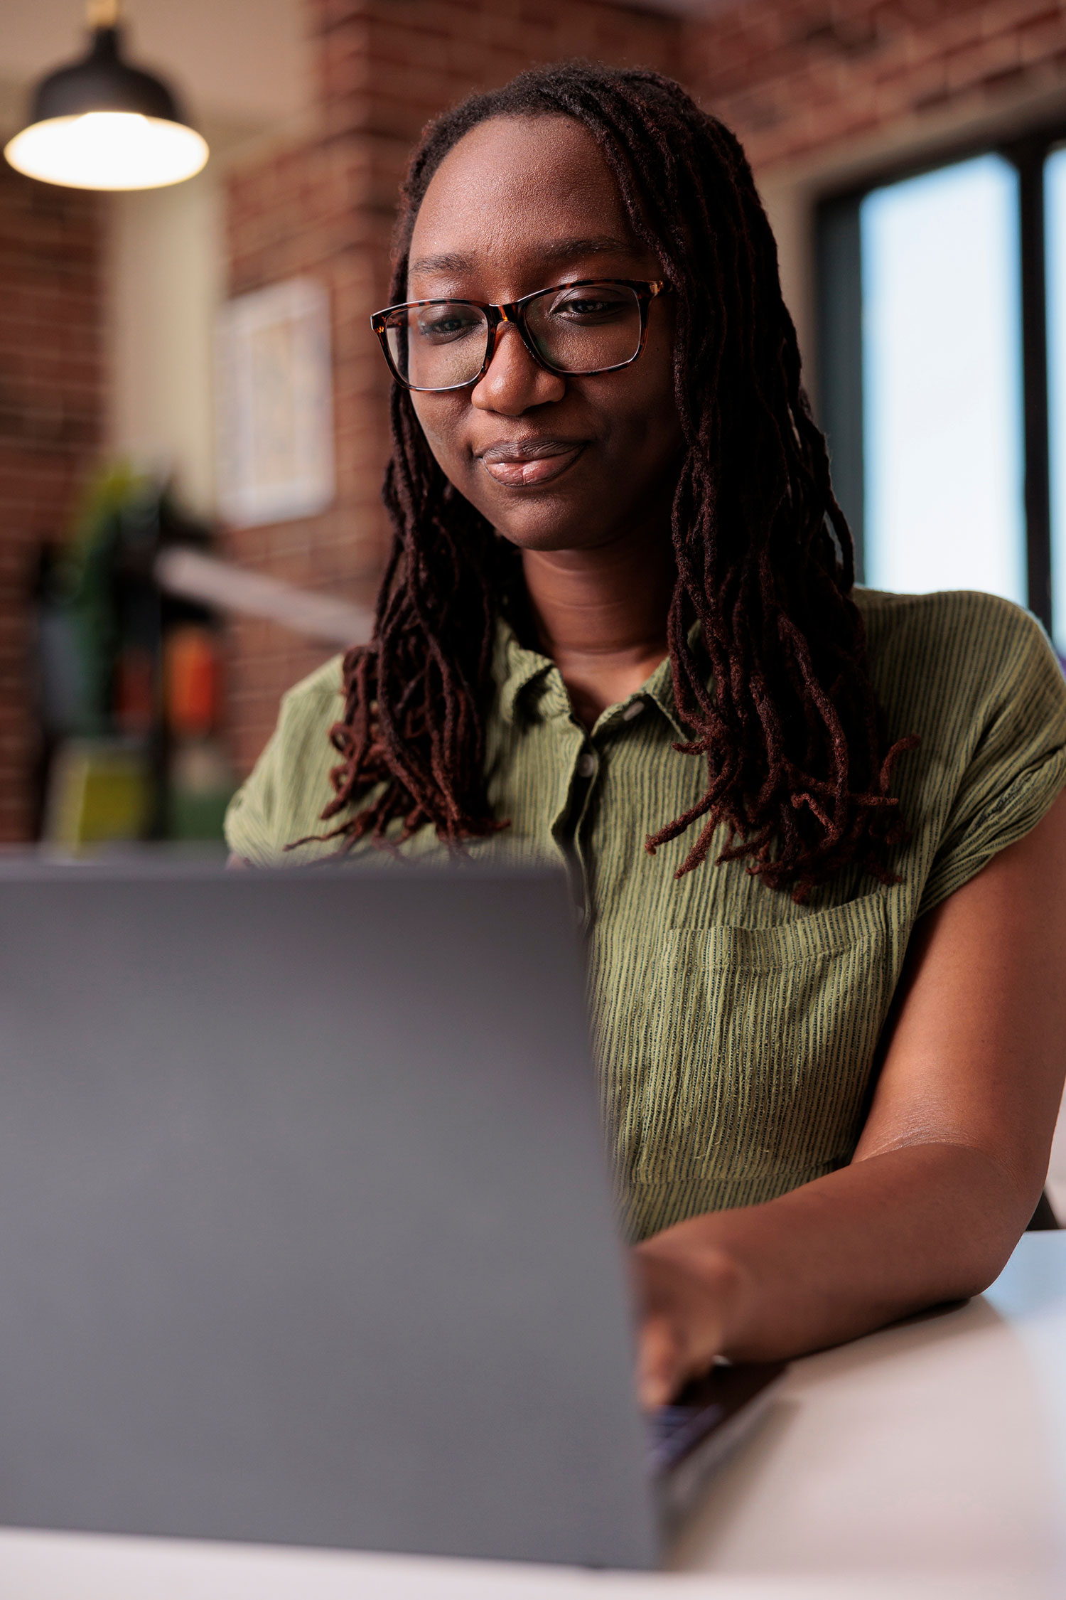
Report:
[[[801,387],[774,235],[734,134],[649,70],[575,61],[473,94],[428,125],[411,160],[392,302],[406,298],[414,221],[444,155],[489,117],[545,115],[593,134],[634,235],[674,291],[686,450],[668,642],[690,731],[674,749],[706,762],[706,789],[647,850],[700,824],[681,877],[724,826],[716,859],[745,859],[796,899],[847,864],[897,882],[885,853],[906,826],[889,782],[916,741],[885,747],[881,733],[850,598],[852,538]],[[497,618],[521,586],[518,552],[444,478],[398,384],[392,440],[393,546],[372,640],[344,661],[345,710],[331,730],[340,762],[323,819],[364,805],[324,837],[342,848],[366,835],[401,843],[430,824],[460,846],[507,826],[489,810],[484,728]]]

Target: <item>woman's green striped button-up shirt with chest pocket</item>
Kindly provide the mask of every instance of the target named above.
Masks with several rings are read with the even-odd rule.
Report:
[[[911,827],[884,886],[847,870],[802,906],[711,859],[674,880],[692,838],[644,838],[706,782],[679,755],[670,662],[587,731],[553,662],[500,629],[487,786],[510,827],[486,861],[564,861],[590,933],[603,1094],[634,1238],[753,1205],[845,1165],[914,922],[1021,838],[1066,782],[1066,683],[1039,624],[983,594],[857,590]],[[227,816],[251,862],[337,846],[321,830],[342,710],[334,659],[291,690]],[[356,856],[372,846],[363,843]],[[441,853],[432,830],[404,846]],[[414,979],[412,979],[414,981]]]

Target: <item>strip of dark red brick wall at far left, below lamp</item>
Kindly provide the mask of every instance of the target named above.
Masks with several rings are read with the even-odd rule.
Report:
[[[29,837],[29,592],[96,462],[102,203],[0,160],[0,842]]]

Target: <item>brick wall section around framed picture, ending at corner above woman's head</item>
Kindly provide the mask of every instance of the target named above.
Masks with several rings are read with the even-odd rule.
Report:
[[[337,501],[320,517],[233,530],[232,555],[369,600],[385,549],[380,475],[388,379],[369,312],[388,293],[388,238],[408,154],[428,117],[537,61],[590,56],[676,70],[681,26],[607,0],[305,0],[320,133],[229,182],[230,293],[307,272],[329,286]],[[270,624],[237,624],[229,717],[246,771],[278,696],[323,659]]]

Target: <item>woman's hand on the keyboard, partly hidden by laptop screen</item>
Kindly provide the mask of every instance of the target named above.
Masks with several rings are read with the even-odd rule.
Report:
[[[690,1250],[673,1230],[633,1251],[641,1328],[638,1397],[666,1405],[722,1354],[742,1298],[742,1274],[721,1250]]]

